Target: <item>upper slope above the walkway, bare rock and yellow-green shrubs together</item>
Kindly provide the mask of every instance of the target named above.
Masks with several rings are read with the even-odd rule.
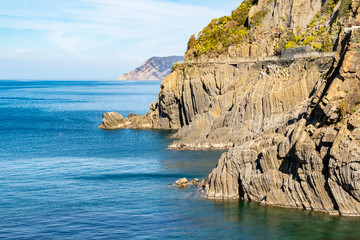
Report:
[[[351,0],[244,0],[190,38],[185,60],[260,59],[285,48],[331,52]]]

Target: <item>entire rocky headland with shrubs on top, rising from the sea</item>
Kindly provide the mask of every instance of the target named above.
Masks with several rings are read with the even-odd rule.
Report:
[[[360,216],[359,5],[244,1],[189,40],[149,113],[118,127],[179,129],[176,149],[229,149],[208,198]],[[278,56],[302,46],[313,52]]]

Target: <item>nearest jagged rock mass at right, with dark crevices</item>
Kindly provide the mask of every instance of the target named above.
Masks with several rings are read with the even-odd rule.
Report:
[[[222,156],[208,178],[209,198],[360,216],[359,36],[343,37],[303,119]]]

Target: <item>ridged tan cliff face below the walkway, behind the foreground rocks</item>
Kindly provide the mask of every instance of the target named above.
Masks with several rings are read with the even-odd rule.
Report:
[[[183,126],[176,134],[180,140],[170,147],[229,148],[294,121],[332,62],[305,58],[184,65],[173,73],[178,85],[168,84],[172,89],[165,86],[160,92],[161,126]],[[165,96],[171,94],[168,101]]]

